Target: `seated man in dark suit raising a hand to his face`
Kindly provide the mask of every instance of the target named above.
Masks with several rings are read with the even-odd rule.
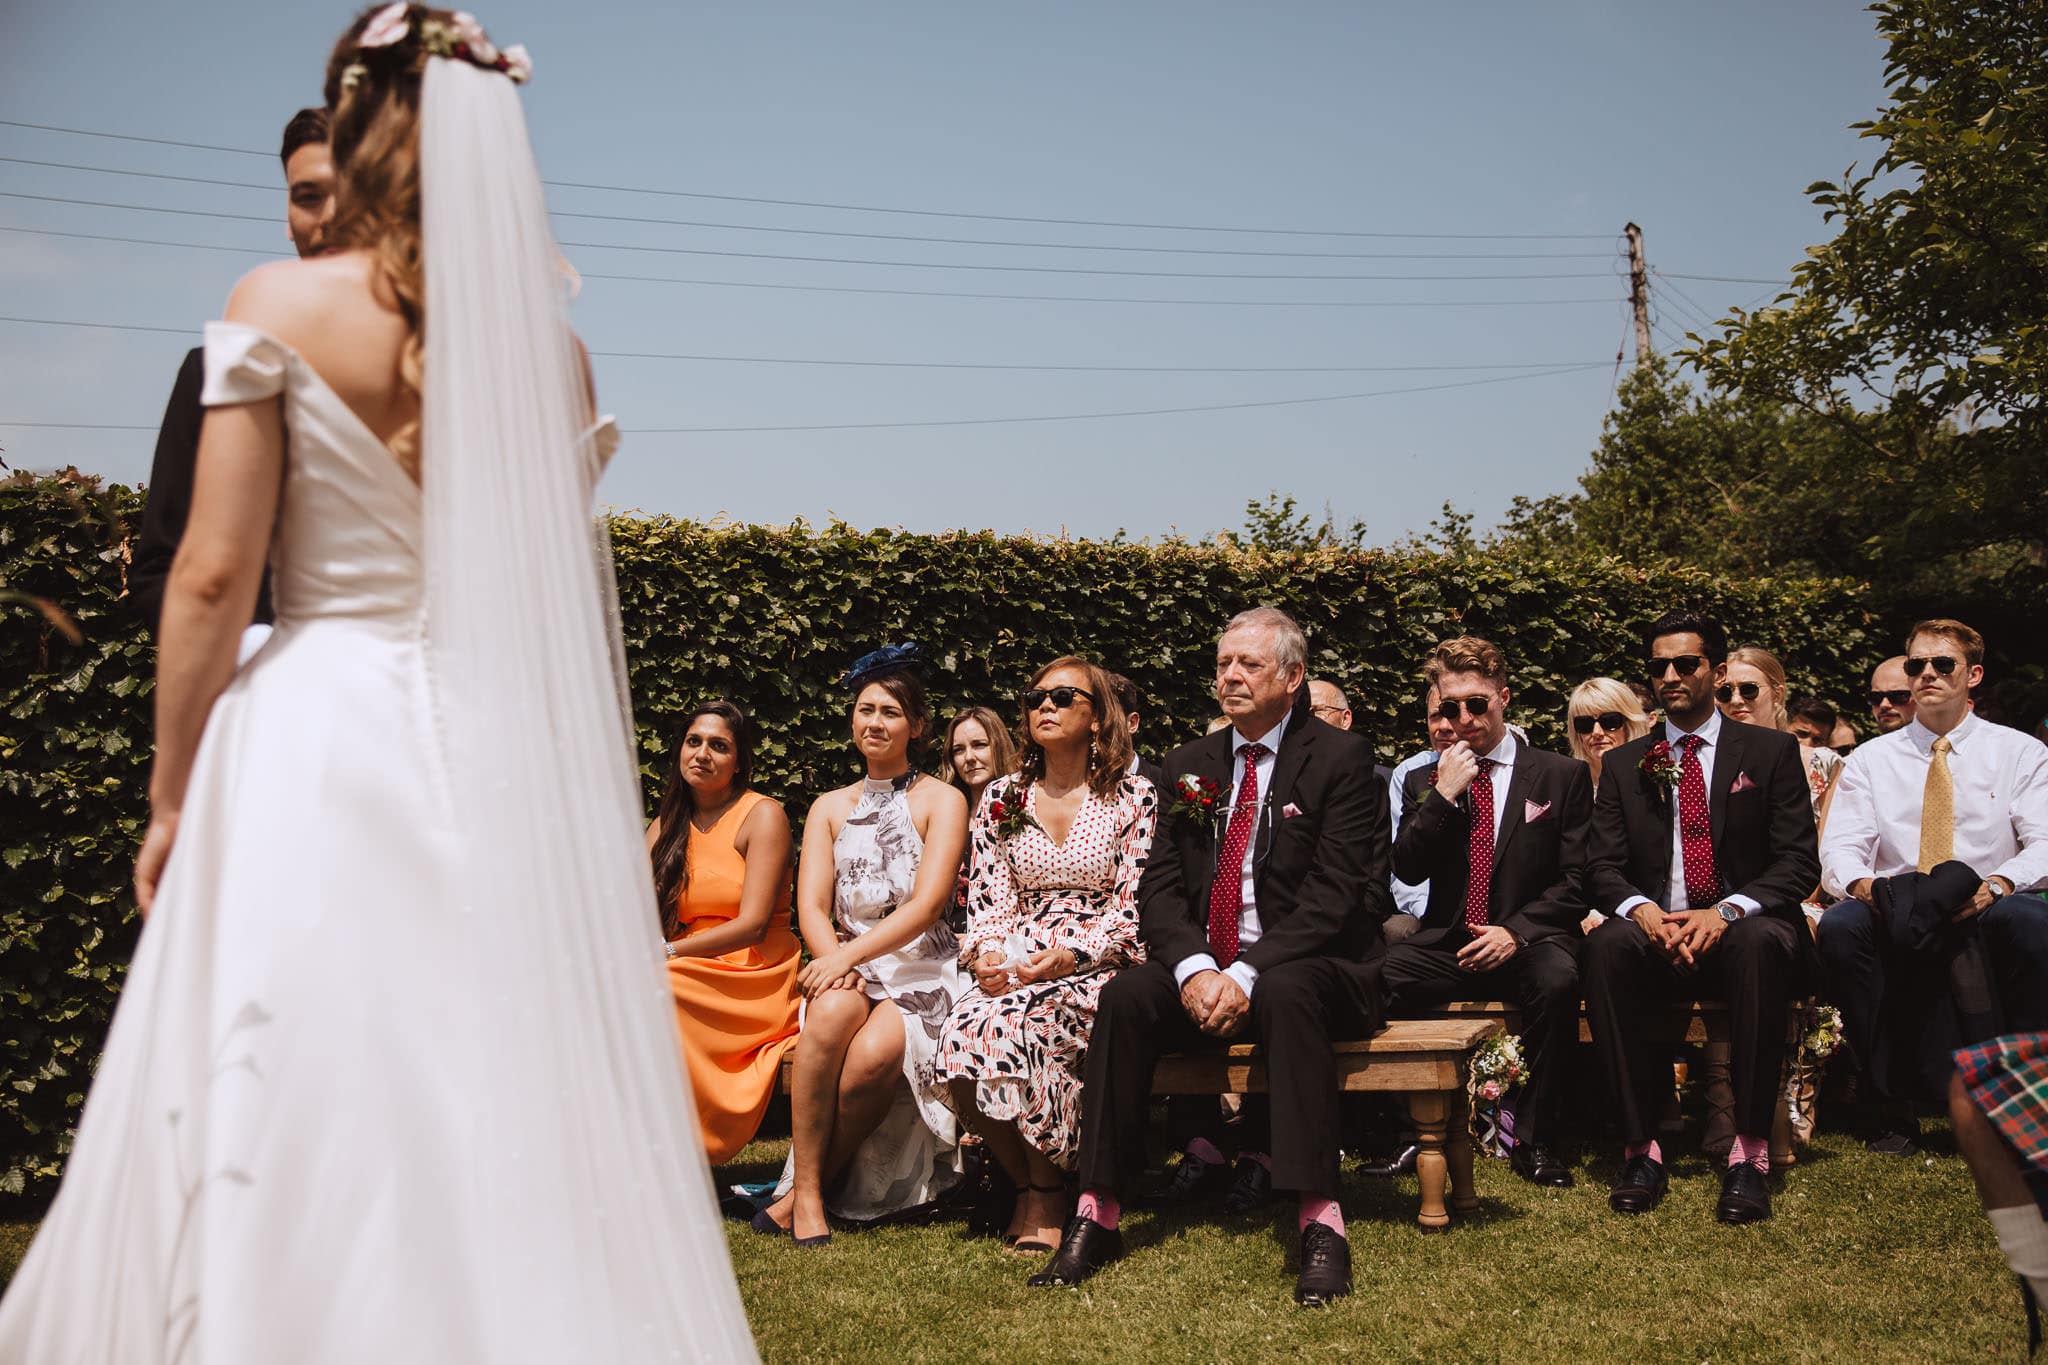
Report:
[[[1565,1058],[1579,1042],[1579,921],[1585,763],[1507,733],[1507,659],[1489,641],[1444,641],[1423,665],[1458,733],[1401,817],[1395,874],[1430,884],[1421,933],[1386,950],[1389,1013],[1444,1001],[1505,999],[1522,1007],[1530,1083],[1516,1105],[1513,1169],[1536,1185],[1571,1185],[1550,1150]]]

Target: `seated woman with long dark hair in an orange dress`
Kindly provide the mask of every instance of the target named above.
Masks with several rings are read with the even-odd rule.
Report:
[[[684,722],[647,827],[668,988],[711,1164],[754,1140],[797,1044],[788,817],[752,790],[754,726],[731,702]]]

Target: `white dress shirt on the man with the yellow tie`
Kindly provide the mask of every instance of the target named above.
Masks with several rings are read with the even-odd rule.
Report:
[[[1911,720],[1858,745],[1835,784],[1821,884],[1843,898],[1868,878],[1919,868],[1921,800],[1935,733]],[[1958,862],[2013,890],[2048,886],[2048,745],[1974,710],[1948,733]]]

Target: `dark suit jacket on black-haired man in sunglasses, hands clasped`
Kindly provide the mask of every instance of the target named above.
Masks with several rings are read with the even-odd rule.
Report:
[[[1585,890],[1604,915],[1638,894],[1665,909],[1671,894],[1677,792],[1638,767],[1663,737],[1665,726],[1657,724],[1602,761],[1606,782],[1593,800]],[[1749,782],[1737,792],[1743,776]],[[1810,948],[1812,935],[1798,907],[1821,880],[1821,851],[1798,741],[1722,716],[1710,788],[1706,800],[1722,894],[1755,898],[1765,915],[1790,921],[1800,931],[1800,943]]]

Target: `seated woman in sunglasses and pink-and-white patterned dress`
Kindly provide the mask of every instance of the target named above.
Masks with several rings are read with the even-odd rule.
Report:
[[[938,1074],[1022,1195],[1004,1234],[1020,1252],[1059,1248],[1096,997],[1145,960],[1137,890],[1159,798],[1128,776],[1114,696],[1085,659],[1038,669],[1022,696],[1022,769],[975,812],[961,943],[975,984],[946,1019]]]

